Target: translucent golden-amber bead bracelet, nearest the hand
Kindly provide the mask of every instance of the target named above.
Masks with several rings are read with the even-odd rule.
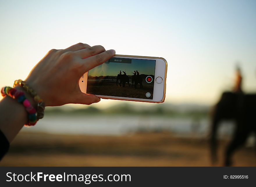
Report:
[[[38,120],[42,119],[45,115],[45,103],[39,97],[39,95],[37,95],[37,93],[25,81],[22,81],[21,79],[14,81],[13,87],[15,86],[21,86],[34,98],[35,102],[38,103],[36,117]]]

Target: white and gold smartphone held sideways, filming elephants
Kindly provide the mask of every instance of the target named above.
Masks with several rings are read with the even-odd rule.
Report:
[[[163,103],[166,74],[164,58],[115,55],[83,74],[79,87],[102,99]]]

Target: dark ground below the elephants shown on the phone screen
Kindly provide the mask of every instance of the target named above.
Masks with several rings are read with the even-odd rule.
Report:
[[[97,86],[95,86],[97,83]],[[115,81],[88,81],[87,93],[95,95],[108,95],[116,97],[131,97],[131,98],[142,98],[142,99],[153,99],[154,84],[143,84],[143,88],[137,85],[137,89],[134,86],[125,84],[125,87],[120,87],[119,82],[116,86]],[[146,97],[146,93],[150,92],[151,96]]]

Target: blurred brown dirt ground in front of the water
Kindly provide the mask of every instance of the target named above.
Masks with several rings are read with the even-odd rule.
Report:
[[[208,140],[177,138],[170,133],[81,136],[19,133],[0,166],[221,166],[212,165]],[[256,166],[253,148],[239,149],[234,166]]]

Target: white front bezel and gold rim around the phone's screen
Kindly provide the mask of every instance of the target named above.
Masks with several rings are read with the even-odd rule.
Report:
[[[125,101],[141,101],[141,102],[152,102],[152,103],[164,102],[165,92],[166,92],[166,75],[167,75],[167,61],[164,58],[149,57],[149,56],[131,56],[131,55],[115,55],[113,57],[156,60],[153,99],[115,97],[115,96],[106,96],[106,95],[96,95],[97,97],[102,98],[102,99],[117,99],[117,100],[125,100]],[[161,76],[163,78],[163,82],[161,84],[156,83],[156,78],[158,76]],[[79,87],[80,87],[81,92],[83,92],[83,93],[86,93],[87,77],[88,77],[88,72],[84,73],[83,77],[81,77],[79,80]]]

